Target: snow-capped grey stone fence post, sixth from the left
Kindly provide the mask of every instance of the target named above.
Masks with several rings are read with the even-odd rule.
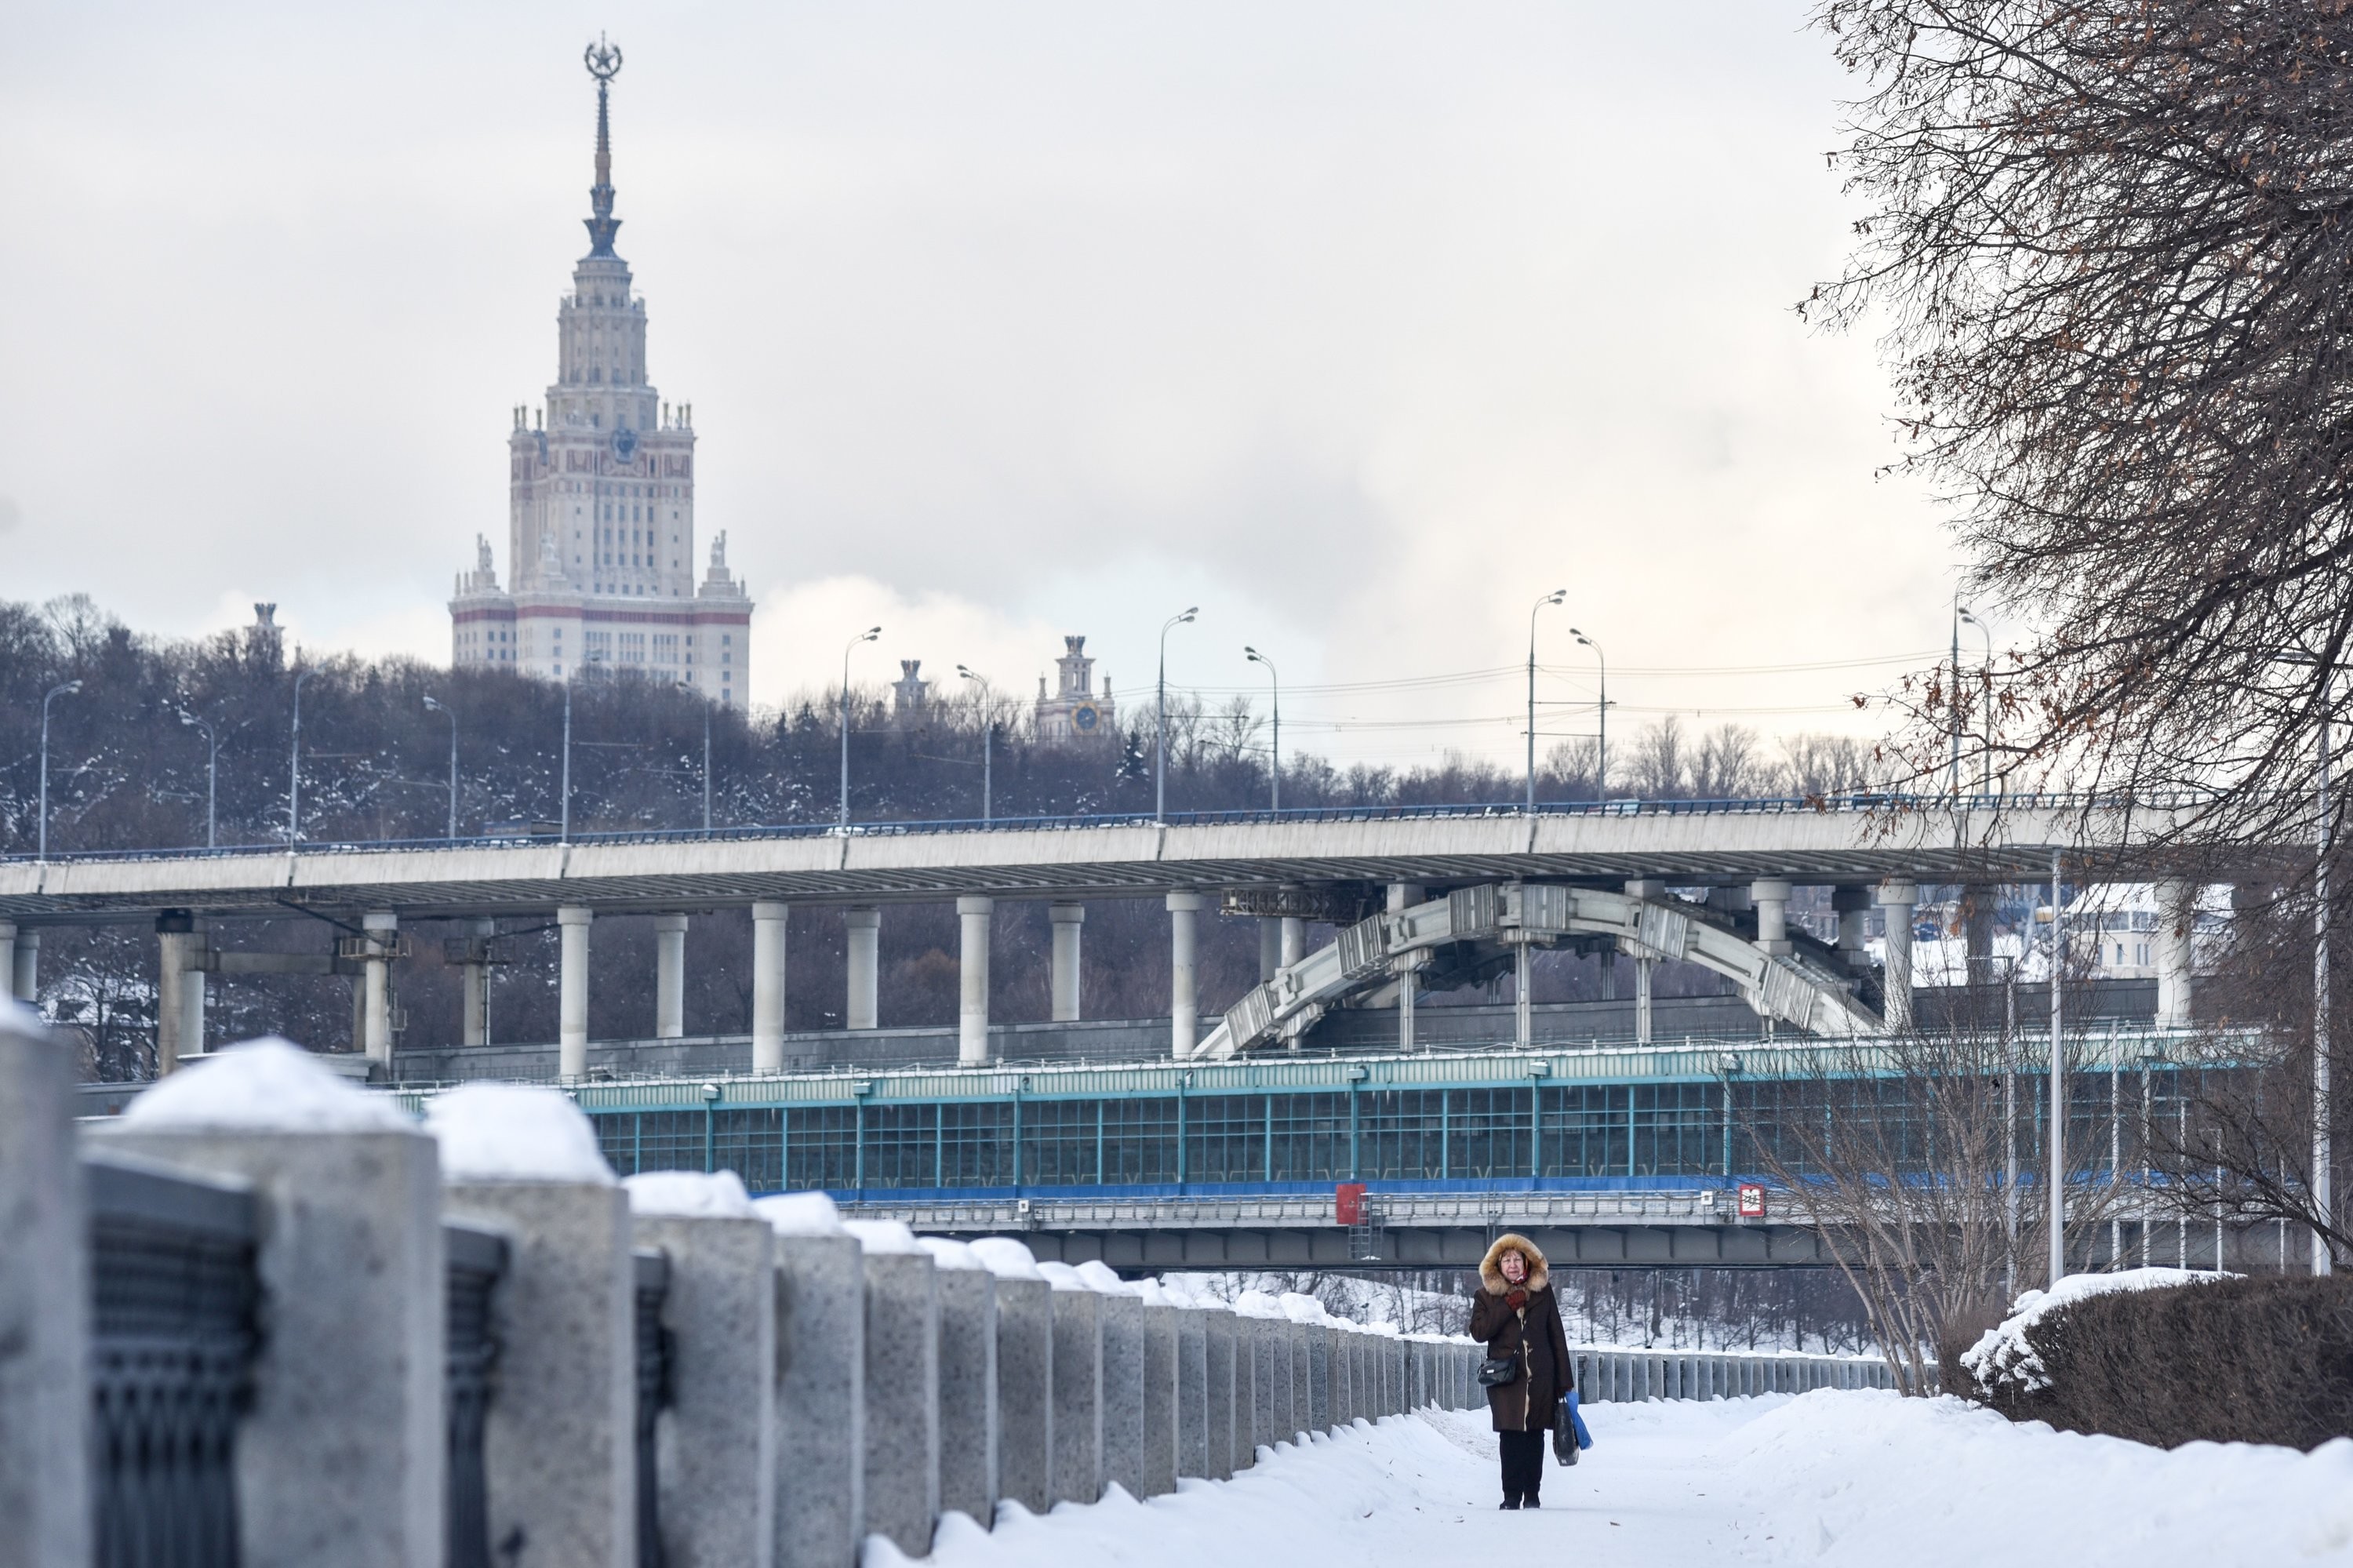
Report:
[[[939,1523],[939,1269],[896,1220],[849,1220],[866,1248],[866,1533],[932,1554]]]

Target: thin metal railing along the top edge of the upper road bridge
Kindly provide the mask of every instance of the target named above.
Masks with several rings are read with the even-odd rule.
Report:
[[[2137,810],[2193,810],[2202,796],[2174,793],[2148,800],[2132,800]],[[2122,808],[2122,800],[2078,793],[2017,793],[2017,796],[1920,796],[1882,791],[1842,791],[1831,796],[1727,796],[1701,800],[1541,800],[1537,817],[1788,817],[1788,815],[1915,815],[1915,812],[2082,812],[2094,808]],[[294,845],[299,855],[384,855],[402,850],[506,850],[572,845],[675,845],[675,843],[748,843],[791,838],[901,838],[911,833],[1075,833],[1094,829],[1136,826],[1257,826],[1257,824],[1318,824],[1318,822],[1461,822],[1461,819],[1527,819],[1527,808],[1508,803],[1457,803],[1457,805],[1301,805],[1285,810],[1221,810],[1221,812],[1068,812],[1040,817],[941,817],[906,822],[774,822],[739,824],[715,829],[628,829],[628,831],[579,831],[569,836],[541,831],[485,831],[456,838],[304,838]],[[273,838],[242,845],[155,845],[139,850],[52,850],[49,864],[101,864],[141,859],[228,859],[238,855],[287,855],[287,841]],[[0,864],[33,862],[35,855],[0,855]]]

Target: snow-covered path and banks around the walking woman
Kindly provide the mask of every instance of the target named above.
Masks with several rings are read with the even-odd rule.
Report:
[[[2313,1455],[2172,1453],[2012,1427],[1958,1401],[1805,1394],[1600,1406],[1577,1469],[1546,1464],[1544,1511],[1497,1511],[1485,1415],[1417,1415],[1261,1450],[1228,1483],[1033,1516],[995,1533],[951,1514],[936,1568],[2271,1568],[2353,1563],[2353,1441]],[[864,1568],[896,1568],[868,1542]]]

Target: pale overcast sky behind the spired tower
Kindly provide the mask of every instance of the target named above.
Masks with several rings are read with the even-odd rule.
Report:
[[[1518,751],[1581,626],[1612,727],[1852,727],[1948,636],[1866,339],[1791,313],[1852,212],[1793,0],[52,5],[0,52],[0,596],[447,659],[508,410],[555,370],[595,99],[692,400],[755,697],[1089,636],[1125,699]],[[1725,671],[1767,664],[1784,673]],[[1649,673],[1645,673],[1649,671]],[[1588,687],[1546,680],[1572,702]],[[1384,720],[1320,730],[1318,720]],[[1454,723],[1421,723],[1421,720]],[[1400,720],[1414,720],[1412,725]],[[1586,727],[1560,709],[1548,730]],[[1617,735],[1612,737],[1617,739]]]

